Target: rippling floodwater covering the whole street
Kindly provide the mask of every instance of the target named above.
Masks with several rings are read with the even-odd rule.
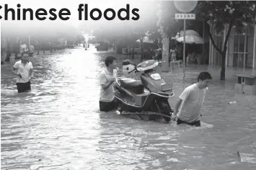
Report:
[[[77,48],[32,58],[32,91],[23,94],[14,63],[1,66],[1,169],[256,169],[256,98],[234,95],[236,79],[209,86],[200,128],[142,122],[99,111],[107,55]],[[203,69],[187,68],[186,85]],[[182,73],[163,76],[173,107]]]

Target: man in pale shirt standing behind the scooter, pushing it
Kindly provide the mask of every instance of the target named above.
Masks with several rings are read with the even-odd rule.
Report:
[[[100,111],[109,112],[117,108],[113,84],[118,77],[117,59],[108,56],[105,59],[106,68],[100,73]]]

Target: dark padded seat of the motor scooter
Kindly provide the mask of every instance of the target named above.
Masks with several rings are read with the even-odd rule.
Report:
[[[140,80],[123,78],[123,79],[120,79],[120,84],[123,88],[130,89],[136,94],[141,94],[144,91],[144,85]]]

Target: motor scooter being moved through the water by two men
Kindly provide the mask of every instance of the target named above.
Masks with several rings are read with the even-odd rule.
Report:
[[[175,96],[172,84],[167,84],[154,68],[162,61],[147,60],[138,65],[129,60],[125,66],[134,66],[133,71],[141,73],[140,80],[118,77],[114,85],[114,95],[118,102],[120,115],[136,120],[159,120],[170,122],[172,108],[168,99]],[[131,67],[130,67],[131,68]]]

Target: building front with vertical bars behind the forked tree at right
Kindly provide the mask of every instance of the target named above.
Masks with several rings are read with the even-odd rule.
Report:
[[[228,28],[226,25],[224,31],[218,35],[211,26],[213,39],[221,50],[223,50]],[[256,68],[255,48],[255,24],[247,24],[244,26],[243,33],[240,34],[235,32],[233,27],[227,44],[225,65],[234,68]],[[212,42],[210,42],[209,65],[221,66],[221,54],[213,47]]]

